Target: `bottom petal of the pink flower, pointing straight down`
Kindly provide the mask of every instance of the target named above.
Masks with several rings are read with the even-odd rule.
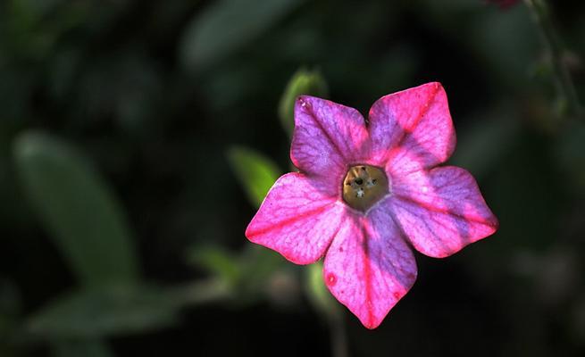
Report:
[[[348,212],[325,257],[323,278],[366,328],[376,328],[413,286],[416,262],[388,210],[374,208],[367,217]]]

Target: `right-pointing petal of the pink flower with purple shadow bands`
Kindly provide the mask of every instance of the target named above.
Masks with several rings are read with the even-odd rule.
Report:
[[[497,230],[475,179],[454,166],[393,178],[390,209],[414,248],[446,257]]]

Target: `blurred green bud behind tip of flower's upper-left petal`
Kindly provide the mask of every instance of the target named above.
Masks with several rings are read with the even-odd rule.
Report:
[[[307,71],[304,68],[293,74],[284,93],[280,97],[280,122],[289,136],[295,128],[295,101],[299,95],[326,97],[329,93],[327,82],[320,71]]]

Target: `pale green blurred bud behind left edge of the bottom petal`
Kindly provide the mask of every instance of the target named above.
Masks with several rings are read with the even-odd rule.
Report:
[[[306,295],[317,311],[325,315],[339,313],[339,304],[323,282],[323,262],[316,262],[307,266],[305,284]]]

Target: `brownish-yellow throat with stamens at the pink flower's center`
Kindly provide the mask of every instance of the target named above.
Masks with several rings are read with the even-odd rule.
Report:
[[[370,165],[352,166],[343,180],[343,200],[352,208],[366,212],[389,193],[383,170]]]

